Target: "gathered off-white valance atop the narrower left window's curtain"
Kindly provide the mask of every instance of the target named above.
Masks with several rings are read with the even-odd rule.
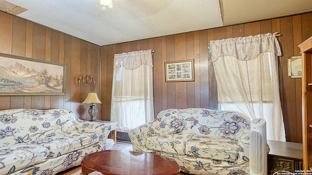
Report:
[[[134,70],[143,64],[153,67],[152,50],[115,54],[114,62],[114,70],[121,66],[127,70]]]

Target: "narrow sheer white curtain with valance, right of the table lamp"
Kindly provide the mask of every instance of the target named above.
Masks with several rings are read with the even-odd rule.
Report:
[[[111,121],[130,130],[154,120],[151,50],[114,56]]]

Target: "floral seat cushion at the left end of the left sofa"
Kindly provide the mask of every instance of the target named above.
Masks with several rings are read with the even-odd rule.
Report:
[[[49,158],[49,149],[33,144],[14,144],[0,148],[0,175],[18,171]]]

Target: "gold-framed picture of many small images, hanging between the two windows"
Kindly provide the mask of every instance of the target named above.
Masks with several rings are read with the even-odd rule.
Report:
[[[165,62],[166,82],[194,81],[194,60]]]

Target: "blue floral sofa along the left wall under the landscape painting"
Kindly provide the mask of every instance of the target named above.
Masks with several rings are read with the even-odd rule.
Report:
[[[106,149],[110,125],[67,109],[0,111],[0,175],[55,175]]]

